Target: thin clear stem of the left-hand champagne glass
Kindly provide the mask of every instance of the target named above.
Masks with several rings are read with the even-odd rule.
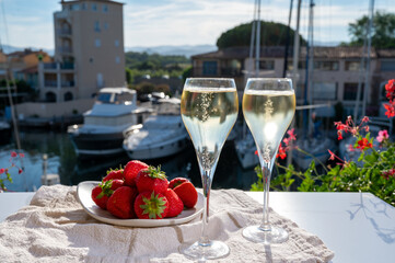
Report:
[[[211,171],[212,170],[204,170],[201,174],[202,181],[202,191],[204,191],[204,213],[201,219],[201,236],[199,239],[199,245],[210,245],[210,239],[207,233],[207,227],[209,224],[209,199],[210,199],[210,191],[211,191]]]

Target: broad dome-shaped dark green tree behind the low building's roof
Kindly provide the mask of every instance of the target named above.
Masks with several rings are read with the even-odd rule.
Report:
[[[263,46],[284,46],[287,39],[287,25],[275,22],[260,21],[260,44]],[[232,46],[249,46],[252,22],[241,24],[221,34],[217,41],[219,49]],[[294,31],[290,30],[290,39],[293,39]],[[306,42],[300,36],[301,45]]]

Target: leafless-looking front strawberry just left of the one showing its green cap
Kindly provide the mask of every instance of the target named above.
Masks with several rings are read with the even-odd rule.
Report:
[[[121,219],[133,218],[133,203],[137,196],[137,191],[133,187],[121,186],[117,188],[108,198],[107,210]]]

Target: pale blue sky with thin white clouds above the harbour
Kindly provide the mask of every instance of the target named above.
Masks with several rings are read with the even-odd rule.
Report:
[[[297,5],[294,0],[294,10]],[[0,0],[4,45],[54,48],[53,13],[60,0]],[[254,0],[124,0],[125,46],[214,45],[222,32],[253,18]],[[306,36],[309,0],[302,1]],[[290,0],[262,0],[262,19],[287,23]],[[368,13],[369,0],[315,0],[314,39],[349,41],[348,23]],[[375,10],[395,12],[394,0],[375,0]],[[3,15],[5,11],[5,16]],[[293,14],[291,26],[295,25]],[[7,27],[5,27],[7,25]],[[8,33],[8,34],[7,34]]]

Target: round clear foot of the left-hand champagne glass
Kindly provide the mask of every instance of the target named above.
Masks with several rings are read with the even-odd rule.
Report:
[[[230,249],[224,242],[210,241],[206,245],[199,242],[183,243],[178,251],[191,260],[216,260],[229,255]]]

